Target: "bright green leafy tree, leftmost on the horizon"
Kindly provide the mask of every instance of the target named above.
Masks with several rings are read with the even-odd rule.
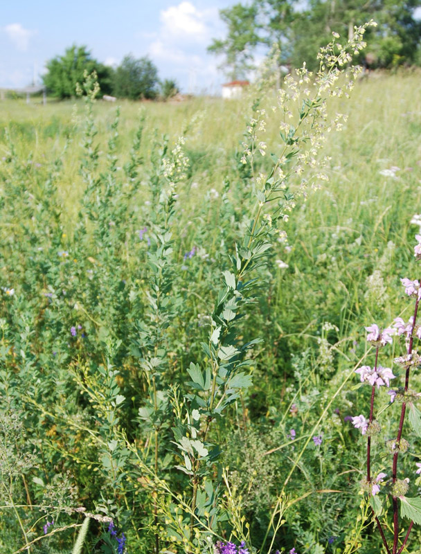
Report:
[[[94,60],[86,46],[73,44],[66,49],[64,55],[49,60],[46,69],[47,73],[43,77],[44,84],[56,98],[75,96],[76,83],[84,81],[84,71],[88,71],[88,73],[96,71],[101,92],[111,93],[112,69]]]

